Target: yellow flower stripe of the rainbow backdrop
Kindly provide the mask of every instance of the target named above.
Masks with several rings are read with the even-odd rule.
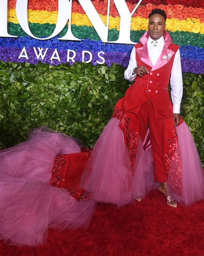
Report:
[[[56,24],[57,22],[57,11],[38,11],[38,10],[29,10],[28,19],[31,23],[49,23]],[[101,20],[103,20],[106,25],[107,16],[99,14]],[[9,21],[18,24],[18,19],[16,18],[15,9],[9,10]],[[77,26],[88,26],[92,27],[88,16],[86,14],[72,13],[72,24]],[[136,17],[131,19],[131,30],[147,30],[148,19],[142,17]],[[120,29],[120,17],[113,18],[109,17],[109,29],[116,28]],[[166,28],[169,31],[175,32],[179,31],[189,31],[193,33],[204,34],[204,23],[200,23],[199,19],[186,19],[186,20],[177,20],[175,18],[167,19]]]

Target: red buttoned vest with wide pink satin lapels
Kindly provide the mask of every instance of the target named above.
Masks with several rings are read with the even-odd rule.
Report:
[[[126,91],[123,107],[126,111],[138,114],[142,103],[150,100],[155,107],[156,118],[169,118],[173,115],[172,102],[169,99],[168,84],[176,51],[179,46],[171,43],[163,50],[158,64],[149,66],[142,61],[147,47],[141,43],[135,44],[138,66],[145,66],[149,73],[143,77],[137,76],[135,82]],[[145,53],[145,54],[142,54]],[[166,55],[163,55],[163,54]]]

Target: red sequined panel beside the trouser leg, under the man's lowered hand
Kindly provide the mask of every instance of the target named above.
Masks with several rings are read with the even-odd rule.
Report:
[[[173,127],[173,139],[168,139],[169,150],[165,154],[165,164],[168,170],[168,185],[177,195],[182,191],[182,161],[175,126]]]

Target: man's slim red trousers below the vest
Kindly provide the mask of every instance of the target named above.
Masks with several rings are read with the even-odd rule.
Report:
[[[155,181],[166,182],[164,162],[164,119],[155,118],[154,106],[151,101],[143,103],[138,116],[139,135],[142,142],[145,140],[147,128],[149,126],[150,142],[154,158]]]

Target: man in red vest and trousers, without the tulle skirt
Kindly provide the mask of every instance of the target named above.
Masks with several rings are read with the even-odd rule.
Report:
[[[167,189],[164,134],[171,132],[169,127],[166,129],[171,122],[175,126],[180,123],[183,84],[179,47],[172,43],[171,36],[165,31],[165,22],[163,10],[155,9],[149,14],[148,31],[134,46],[125,71],[125,78],[135,82],[125,94],[123,107],[127,113],[138,115],[142,142],[149,127],[155,181],[160,182],[159,190],[165,194],[167,204],[176,207],[176,201]],[[169,78],[173,109],[168,95]]]

